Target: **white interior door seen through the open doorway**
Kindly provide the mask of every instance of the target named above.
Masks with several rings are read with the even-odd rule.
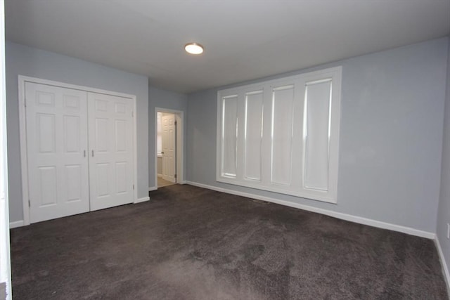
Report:
[[[175,182],[175,115],[164,114],[162,123],[162,178]]]

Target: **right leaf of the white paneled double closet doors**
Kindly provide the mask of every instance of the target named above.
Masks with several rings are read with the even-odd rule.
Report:
[[[133,117],[129,98],[88,93],[91,210],[133,202]]]

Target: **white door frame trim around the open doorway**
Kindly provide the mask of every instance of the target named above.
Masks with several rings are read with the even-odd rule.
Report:
[[[155,185],[149,190],[158,190],[158,112],[166,112],[175,115],[176,120],[176,168],[175,168],[175,183],[184,184],[184,111],[172,110],[169,108],[155,107]]]

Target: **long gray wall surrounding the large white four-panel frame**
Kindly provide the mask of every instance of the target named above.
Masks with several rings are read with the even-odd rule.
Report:
[[[446,56],[443,38],[309,69],[343,68],[338,204],[217,183],[217,89],[188,95],[187,180],[434,233]]]

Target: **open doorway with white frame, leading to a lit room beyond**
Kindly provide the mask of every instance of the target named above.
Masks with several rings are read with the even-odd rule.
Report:
[[[183,112],[155,109],[155,188],[183,183]]]

